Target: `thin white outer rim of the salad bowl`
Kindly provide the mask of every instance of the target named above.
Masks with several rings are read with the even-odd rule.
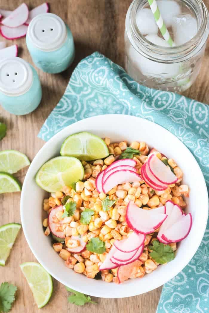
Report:
[[[185,144],[180,141],[180,139],[178,137],[176,137],[173,133],[171,133],[170,131],[168,131],[166,128],[160,126],[159,124],[153,122],[153,121],[150,121],[150,120],[147,120],[147,119],[144,119],[144,118],[141,118],[141,117],[138,117],[138,116],[133,116],[133,115],[126,115],[126,114],[105,114],[105,115],[108,115],[109,118],[118,118],[118,116],[123,116],[123,117],[126,117],[128,119],[137,119],[137,120],[143,120],[143,121],[146,121],[146,123],[148,123],[148,126],[150,126],[152,128],[152,125],[154,124],[155,126],[154,127],[159,127],[161,128],[163,131],[165,131],[165,133],[169,133],[169,136],[175,138],[175,140],[179,141],[180,144],[184,145]],[[50,146],[54,140],[56,140],[57,138],[60,137],[60,135],[62,133],[65,133],[68,129],[70,130],[72,126],[75,126],[76,125],[79,125],[79,124],[83,124],[86,120],[93,120],[95,118],[104,118],[104,115],[97,115],[97,116],[92,116],[92,117],[89,117],[89,118],[86,118],[86,119],[82,119],[80,121],[77,121],[69,126],[66,126],[65,128],[63,128],[62,130],[60,130],[59,132],[57,132],[53,137],[51,137],[47,142],[45,142],[45,144],[41,147],[41,149],[38,151],[38,153],[35,155],[33,161],[31,162],[30,166],[29,166],[29,169],[26,173],[26,176],[25,176],[25,179],[24,179],[24,183],[23,183],[23,187],[22,187],[22,192],[21,192],[21,198],[20,198],[20,216],[21,216],[21,223],[22,223],[22,228],[23,228],[23,232],[24,232],[24,236],[25,236],[25,239],[29,245],[29,248],[31,249],[32,253],[34,254],[35,258],[38,260],[38,262],[44,267],[44,269],[47,270],[47,272],[52,276],[54,277],[56,280],[58,280],[61,284],[65,285],[65,286],[69,286],[70,288],[72,289],[75,289],[75,287],[73,285],[71,285],[71,282],[69,282],[68,284],[66,284],[66,282],[63,282],[63,280],[60,280],[59,277],[57,277],[57,275],[54,275],[53,274],[53,271],[48,269],[48,266],[46,263],[42,262],[41,260],[41,257],[39,256],[39,254],[37,253],[37,250],[35,251],[34,247],[32,246],[31,244],[31,240],[30,240],[30,234],[27,233],[26,231],[26,227],[25,227],[25,220],[24,220],[24,193],[27,192],[27,185],[26,185],[26,182],[27,182],[27,178],[29,177],[30,175],[30,171],[33,170],[33,164],[36,162],[36,160],[39,158],[39,156],[42,154],[42,151],[45,150],[48,146]],[[82,125],[83,126],[83,125]],[[84,126],[85,128],[85,126]],[[207,210],[205,210],[205,212],[208,212],[208,192],[207,192],[207,187],[206,187],[206,182],[205,182],[205,179],[204,179],[204,176],[203,176],[203,173],[201,171],[201,168],[199,166],[199,164],[197,163],[195,157],[193,156],[193,154],[191,153],[191,151],[187,148],[187,146],[185,146],[188,154],[190,154],[190,156],[192,157],[193,161],[196,162],[196,165],[198,166],[199,168],[199,171],[200,171],[200,175],[201,175],[201,184],[202,184],[202,187],[204,186],[204,190],[202,192],[202,195],[205,195],[205,203],[206,203],[206,208]],[[90,296],[95,296],[95,297],[102,297],[102,298],[126,298],[126,297],[130,297],[130,296],[135,296],[135,295],[139,295],[139,294],[143,294],[143,293],[146,293],[146,292],[149,292],[151,290],[154,290],[162,285],[164,285],[166,282],[168,282],[169,280],[173,279],[176,275],[178,275],[180,273],[180,271],[182,271],[182,269],[184,269],[184,267],[190,262],[190,260],[193,258],[193,256],[195,255],[197,249],[199,248],[200,244],[201,244],[201,241],[203,239],[203,236],[204,236],[204,233],[205,233],[205,230],[206,230],[206,225],[207,225],[207,217],[208,217],[208,214],[207,216],[205,216],[206,218],[204,219],[204,225],[201,227],[201,229],[199,230],[200,231],[200,235],[199,235],[199,241],[198,243],[196,243],[195,247],[193,247],[192,249],[192,253],[190,255],[189,258],[185,258],[184,260],[182,260],[182,264],[181,264],[181,269],[179,270],[175,270],[170,273],[170,275],[167,275],[167,278],[165,278],[164,280],[161,280],[159,284],[157,285],[154,285],[154,287],[149,290],[144,290],[144,292],[140,292],[138,293],[137,290],[133,291],[132,290],[132,295],[117,295],[117,297],[113,295],[97,295],[97,294],[93,294],[92,292],[87,292],[83,289],[83,287],[81,286],[81,288],[76,288],[75,290],[81,292],[81,293],[84,293],[84,294],[87,294],[87,295],[90,295]],[[127,285],[125,285],[127,287]]]

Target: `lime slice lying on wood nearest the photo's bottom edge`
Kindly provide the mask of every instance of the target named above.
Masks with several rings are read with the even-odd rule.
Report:
[[[33,292],[38,308],[42,308],[49,302],[53,291],[51,275],[35,262],[20,264],[20,268]]]

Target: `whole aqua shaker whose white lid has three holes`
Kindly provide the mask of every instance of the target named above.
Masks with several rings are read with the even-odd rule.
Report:
[[[39,76],[24,59],[0,60],[0,104],[15,115],[34,111],[42,98]]]

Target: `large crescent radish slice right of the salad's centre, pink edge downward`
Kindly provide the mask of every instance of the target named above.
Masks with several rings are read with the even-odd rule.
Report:
[[[144,210],[138,208],[133,201],[127,206],[126,221],[128,226],[137,233],[150,234],[153,233],[167,218],[164,213],[152,213],[152,210]]]

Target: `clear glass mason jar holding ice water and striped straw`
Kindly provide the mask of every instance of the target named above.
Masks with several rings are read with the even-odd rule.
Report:
[[[147,0],[133,0],[126,15],[125,69],[134,80],[150,88],[182,92],[200,72],[208,37],[208,11],[201,0],[177,2],[189,8],[197,22],[196,35],[179,46],[156,45],[139,31],[136,16],[138,10],[147,7]]]

